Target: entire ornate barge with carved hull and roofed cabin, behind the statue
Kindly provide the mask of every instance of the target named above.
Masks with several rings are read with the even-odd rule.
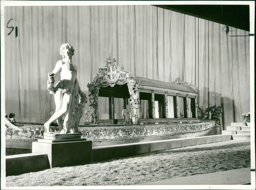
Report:
[[[197,87],[180,78],[167,83],[133,76],[123,65],[115,66],[111,55],[105,62],[106,68],[99,68],[87,85],[90,107],[84,113],[84,125],[79,125],[82,138],[92,140],[93,146],[206,136],[220,124],[222,108],[213,106],[203,112]],[[43,124],[16,125],[23,133],[7,127],[7,141],[43,138]],[[51,130],[57,132],[58,126],[52,125]]]

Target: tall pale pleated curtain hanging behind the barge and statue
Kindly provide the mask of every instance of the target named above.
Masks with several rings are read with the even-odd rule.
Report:
[[[5,112],[17,121],[44,123],[55,110],[47,73],[74,46],[77,78],[87,83],[109,53],[133,75],[199,87],[199,107],[223,107],[223,127],[250,110],[249,32],[151,5],[8,6],[5,23]],[[224,29],[223,29],[224,28]],[[234,35],[232,37],[230,35]],[[56,81],[58,77],[56,77]],[[101,108],[108,113],[108,103]],[[88,109],[89,103],[85,109]]]

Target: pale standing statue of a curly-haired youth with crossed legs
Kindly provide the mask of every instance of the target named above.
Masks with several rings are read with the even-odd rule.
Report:
[[[56,63],[51,73],[48,73],[47,90],[50,94],[54,94],[56,104],[55,113],[44,123],[46,133],[50,132],[50,125],[57,120],[59,131],[62,134],[70,132],[78,132],[79,120],[83,115],[84,103],[87,98],[81,91],[76,79],[77,67],[72,63],[74,48],[70,44],[62,44],[60,54],[62,60]],[[54,75],[60,72],[60,81],[54,86]],[[79,96],[81,97],[80,103]],[[64,123],[62,116],[64,115]]]

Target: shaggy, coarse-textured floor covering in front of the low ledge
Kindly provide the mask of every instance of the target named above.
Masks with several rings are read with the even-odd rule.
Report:
[[[6,186],[133,185],[250,167],[250,142],[229,140],[7,176]]]

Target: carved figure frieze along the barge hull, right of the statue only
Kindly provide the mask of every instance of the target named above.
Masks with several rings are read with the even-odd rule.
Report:
[[[205,131],[215,126],[216,120],[198,124],[164,124],[131,127],[81,127],[82,138],[87,140],[127,139],[153,136],[168,136]],[[102,127],[102,128],[101,128]]]

